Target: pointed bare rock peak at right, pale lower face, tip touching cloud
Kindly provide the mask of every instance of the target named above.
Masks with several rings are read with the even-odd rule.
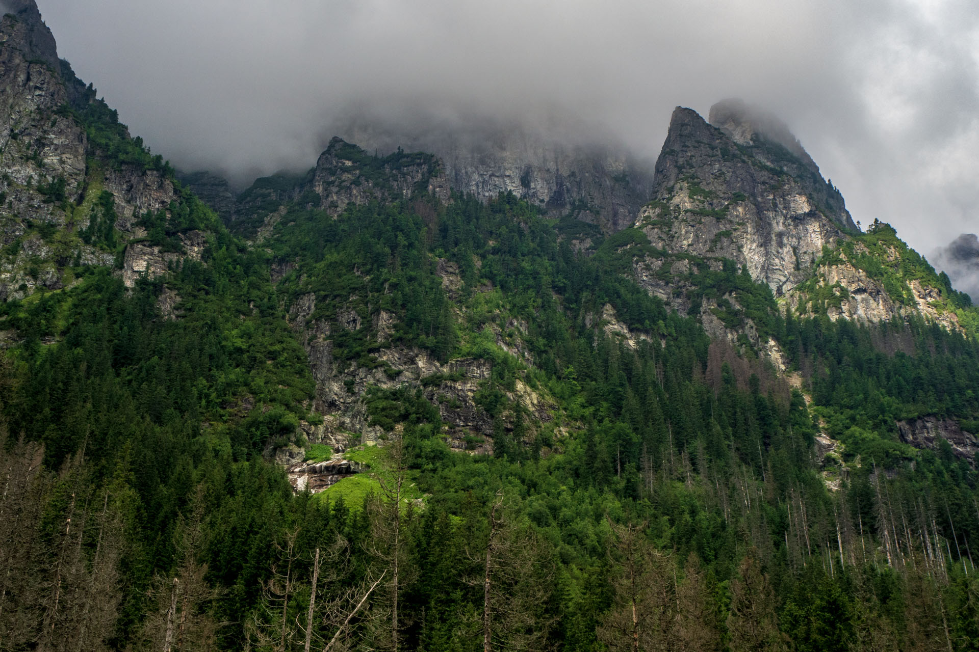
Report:
[[[809,276],[824,244],[856,227],[787,129],[735,109],[712,109],[720,126],[674,111],[653,201],[635,226],[672,254],[734,260],[780,295]]]

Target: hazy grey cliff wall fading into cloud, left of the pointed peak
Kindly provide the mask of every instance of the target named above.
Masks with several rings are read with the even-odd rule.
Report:
[[[564,131],[572,131],[565,129]],[[519,125],[444,126],[414,131],[377,125],[344,133],[368,152],[433,152],[454,191],[483,199],[513,193],[551,217],[574,214],[606,233],[631,226],[650,196],[652,166],[625,147],[549,137]]]

